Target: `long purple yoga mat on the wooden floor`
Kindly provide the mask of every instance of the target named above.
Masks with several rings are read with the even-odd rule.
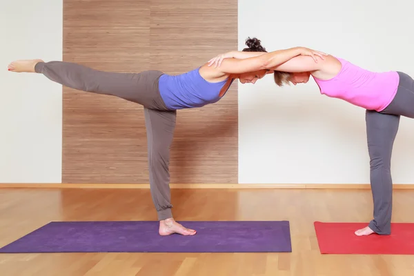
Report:
[[[179,221],[193,236],[158,235],[158,221],[53,221],[0,253],[292,252],[288,221]]]

